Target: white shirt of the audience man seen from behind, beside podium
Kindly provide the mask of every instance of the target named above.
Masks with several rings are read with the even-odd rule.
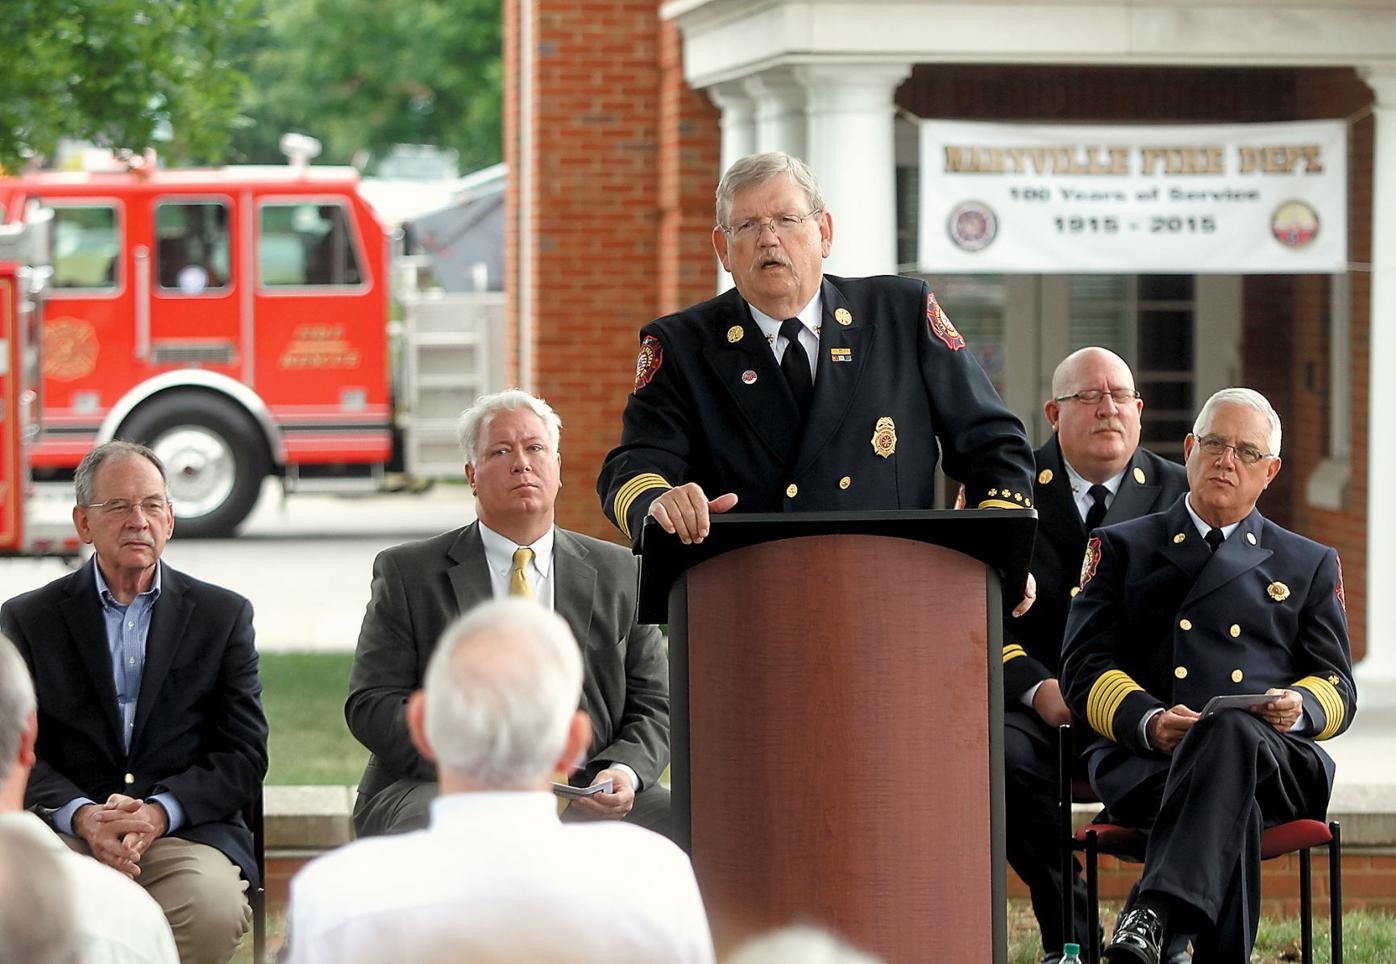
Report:
[[[289,926],[289,964],[713,961],[684,852],[627,823],[561,823],[547,792],[438,797],[426,830],[311,861]]]

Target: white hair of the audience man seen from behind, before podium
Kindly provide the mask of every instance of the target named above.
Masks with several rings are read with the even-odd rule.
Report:
[[[557,614],[497,598],[447,626],[427,664],[426,737],[443,769],[477,787],[546,780],[582,695],[582,654]]]

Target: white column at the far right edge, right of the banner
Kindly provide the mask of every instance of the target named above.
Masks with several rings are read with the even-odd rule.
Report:
[[[1396,446],[1382,432],[1396,424],[1396,71],[1369,71],[1372,145],[1372,304],[1367,384],[1367,656],[1358,691],[1371,705],[1396,702]]]

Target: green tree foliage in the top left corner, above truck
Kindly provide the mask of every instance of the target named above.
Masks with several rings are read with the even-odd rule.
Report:
[[[0,1],[0,166],[64,135],[218,158],[244,95],[233,57],[253,1]]]

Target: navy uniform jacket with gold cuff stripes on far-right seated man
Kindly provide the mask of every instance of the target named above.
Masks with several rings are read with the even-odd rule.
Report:
[[[1252,509],[1213,555],[1182,499],[1099,529],[1061,675],[1068,706],[1100,734],[1087,769],[1107,805],[1168,766],[1141,741],[1145,713],[1201,711],[1212,696],[1272,686],[1304,696],[1305,724],[1290,738],[1314,749],[1332,788],[1333,760],[1314,741],[1357,711],[1337,552]]]

